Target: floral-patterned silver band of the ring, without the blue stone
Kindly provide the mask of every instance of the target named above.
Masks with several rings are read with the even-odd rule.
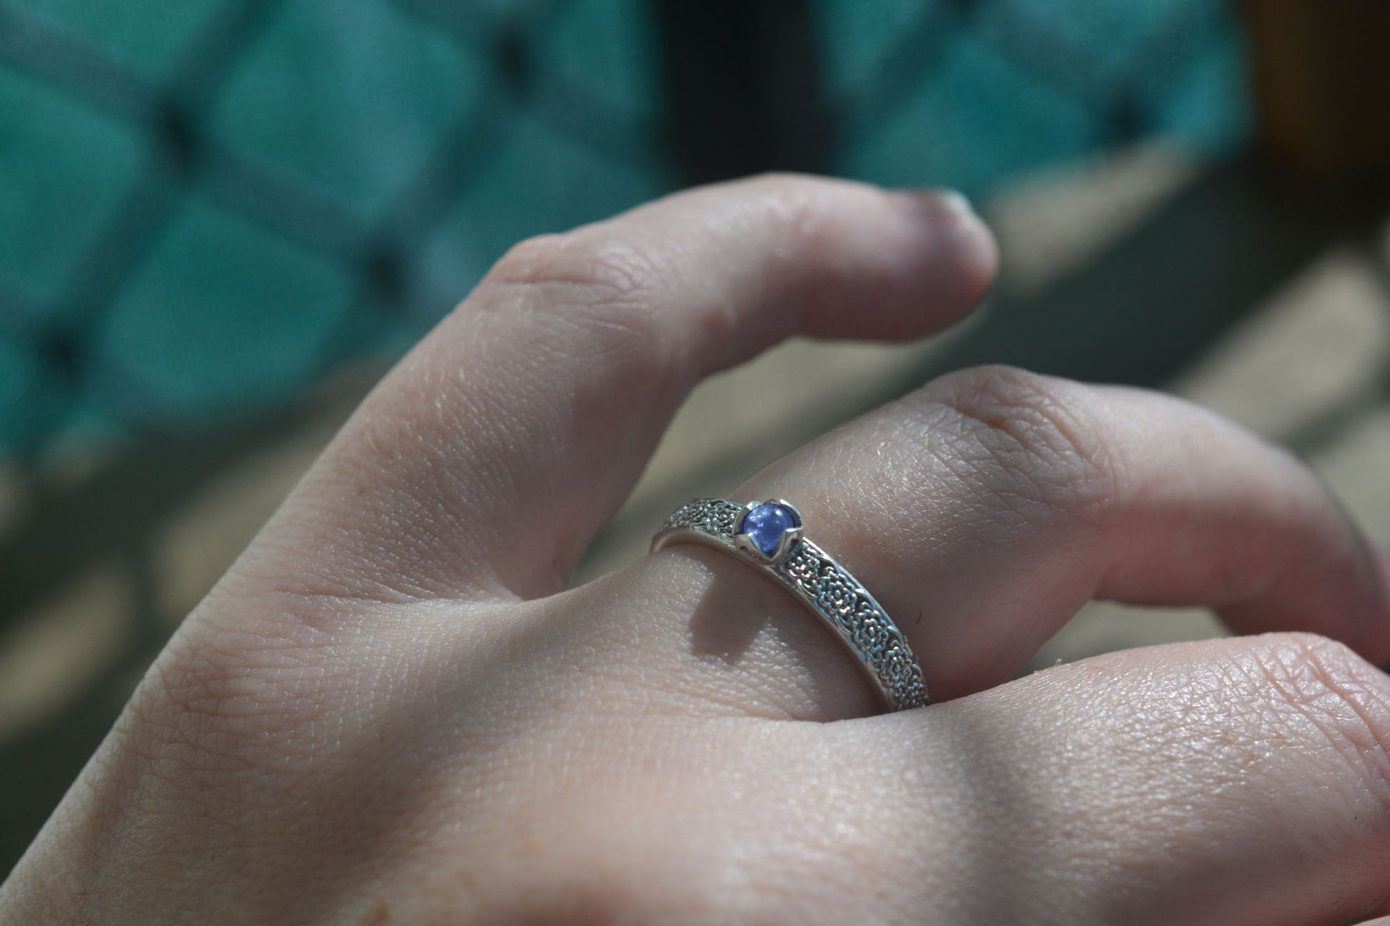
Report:
[[[724,499],[688,502],[666,519],[653,548],[687,534],[688,539],[712,542],[769,567],[734,542],[742,510],[742,506]],[[769,571],[824,617],[855,651],[876,676],[890,708],[902,710],[927,704],[922,666],[902,631],[840,563],[810,541],[801,539]]]

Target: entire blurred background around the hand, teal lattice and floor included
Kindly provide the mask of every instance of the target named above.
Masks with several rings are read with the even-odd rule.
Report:
[[[1191,396],[1390,545],[1387,49],[1383,0],[0,0],[0,872],[491,261],[689,184],[956,186],[1004,274],[702,387],[581,580],[981,362]],[[1216,633],[1097,605],[1037,665]]]

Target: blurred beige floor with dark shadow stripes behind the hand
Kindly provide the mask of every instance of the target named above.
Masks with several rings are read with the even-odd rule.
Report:
[[[1141,149],[1029,178],[984,211],[1005,256],[984,311],[927,343],[788,343],[705,384],[578,578],[641,556],[685,498],[981,362],[1201,402],[1293,446],[1390,548],[1384,190],[1290,190]],[[0,872],[379,373],[346,371],[270,421],[0,471]],[[1204,612],[1099,603],[1034,665],[1218,633]]]

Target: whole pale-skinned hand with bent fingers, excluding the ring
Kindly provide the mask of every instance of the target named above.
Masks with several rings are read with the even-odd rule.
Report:
[[[730,492],[798,505],[926,709],[878,715],[717,551],[567,588],[699,378],[929,334],[994,264],[956,199],[799,177],[518,246],[183,623],[0,922],[1390,911],[1390,570],[1293,457],[1176,399],[965,370]],[[1258,635],[1012,680],[1097,596]]]

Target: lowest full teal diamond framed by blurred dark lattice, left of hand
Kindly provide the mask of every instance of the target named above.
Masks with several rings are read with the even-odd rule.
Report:
[[[353,309],[350,267],[192,193],[92,332],[85,405],[197,421],[309,385]]]

